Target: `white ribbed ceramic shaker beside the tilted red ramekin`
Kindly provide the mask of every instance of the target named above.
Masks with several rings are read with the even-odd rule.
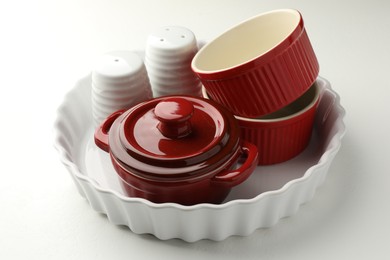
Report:
[[[197,51],[195,35],[187,28],[165,26],[149,35],[145,65],[154,97],[201,96],[200,80],[191,70],[191,61]]]

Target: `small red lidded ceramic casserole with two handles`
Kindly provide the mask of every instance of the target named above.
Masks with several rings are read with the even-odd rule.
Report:
[[[190,96],[115,112],[95,131],[95,143],[110,153],[129,196],[156,203],[220,203],[258,161],[229,111]]]

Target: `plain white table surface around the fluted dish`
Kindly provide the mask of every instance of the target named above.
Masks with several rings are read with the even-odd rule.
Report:
[[[159,26],[207,41],[277,8],[302,12],[320,74],[347,110],[342,148],[314,199],[273,228],[222,242],[160,241],[94,212],[52,132],[93,60],[143,49]],[[390,1],[7,1],[0,36],[0,259],[390,259]]]

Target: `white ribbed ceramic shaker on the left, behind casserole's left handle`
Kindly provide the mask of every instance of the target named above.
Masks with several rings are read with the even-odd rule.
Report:
[[[113,51],[97,59],[92,72],[94,126],[120,109],[128,109],[152,98],[152,90],[141,57],[132,51]]]

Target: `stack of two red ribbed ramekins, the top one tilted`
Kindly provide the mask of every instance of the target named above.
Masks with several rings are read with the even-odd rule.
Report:
[[[291,9],[250,18],[206,44],[192,60],[203,96],[236,116],[259,164],[286,161],[310,141],[319,64],[302,15]]]

